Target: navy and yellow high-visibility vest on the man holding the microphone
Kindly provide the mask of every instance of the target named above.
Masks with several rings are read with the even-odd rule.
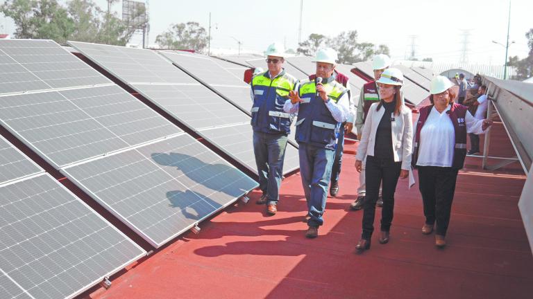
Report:
[[[322,84],[328,97],[334,102],[338,102],[346,93],[346,88],[335,81],[335,78],[330,77]],[[302,82],[298,93],[303,102],[300,102],[298,108],[296,141],[326,149],[335,149],[341,123],[333,118],[330,110],[325,106],[325,102],[317,95],[315,81]]]

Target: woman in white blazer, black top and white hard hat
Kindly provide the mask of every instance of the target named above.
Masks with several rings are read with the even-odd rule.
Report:
[[[379,241],[381,244],[389,242],[398,177],[407,178],[411,170],[413,125],[411,110],[405,107],[400,96],[403,74],[398,69],[386,69],[377,83],[380,101],[369,109],[355,156],[357,172],[361,172],[362,161],[366,158],[363,233],[356,246],[359,253],[370,248],[381,183],[383,208]]]

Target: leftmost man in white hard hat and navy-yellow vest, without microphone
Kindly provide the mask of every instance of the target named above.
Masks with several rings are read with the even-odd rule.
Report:
[[[278,212],[287,136],[293,119],[293,115],[285,113],[282,107],[289,98],[289,91],[296,89],[298,81],[282,68],[285,48],[281,44],[271,44],[264,54],[267,55],[268,71],[256,73],[250,83],[253,100],[251,124],[259,188],[263,192],[257,204],[267,204],[267,214],[275,215]]]

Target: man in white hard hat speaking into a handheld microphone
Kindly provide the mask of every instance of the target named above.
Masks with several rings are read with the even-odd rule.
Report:
[[[335,158],[337,136],[349,114],[346,88],[335,81],[333,72],[337,52],[323,48],[316,52],[316,79],[301,82],[290,92],[285,112],[298,113],[296,141],[300,156],[300,174],[307,201],[306,237],[319,235],[328,198],[331,167]]]

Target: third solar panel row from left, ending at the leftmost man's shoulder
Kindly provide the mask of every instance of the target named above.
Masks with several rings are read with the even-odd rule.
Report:
[[[203,84],[221,93],[226,100],[233,102],[244,109],[247,114],[250,114],[252,100],[250,98],[250,86],[242,80],[244,71],[240,77],[237,77],[226,71],[219,62],[204,55],[184,55],[169,52],[162,52],[162,55]]]

